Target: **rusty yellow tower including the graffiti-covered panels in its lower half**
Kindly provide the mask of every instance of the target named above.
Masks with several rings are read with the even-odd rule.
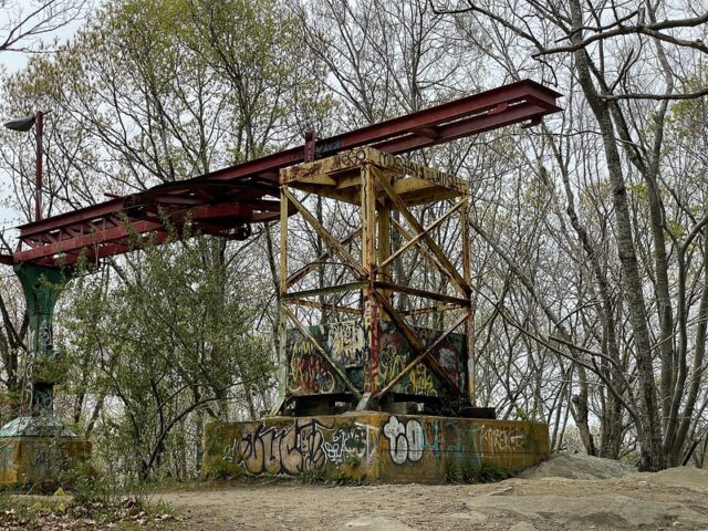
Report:
[[[343,409],[398,413],[404,404],[421,404],[456,416],[469,409],[475,371],[468,184],[371,147],[283,169],[280,183],[281,400],[273,413],[292,404],[295,415],[333,414],[337,403]],[[353,206],[358,227],[337,238],[298,191]],[[440,201],[445,211],[424,227],[414,209]],[[329,249],[292,273],[291,210],[312,232],[305,238],[319,237]],[[442,228],[456,235],[457,241],[447,241],[455,257],[439,241]],[[400,244],[392,249],[393,241]],[[424,260],[406,260],[410,253]],[[441,282],[430,282],[433,271],[416,282],[415,263],[435,270]],[[312,288],[308,278],[323,268],[336,283]],[[393,274],[404,269],[406,274]],[[402,304],[412,299],[418,304]],[[306,326],[298,310],[314,313],[319,323]],[[416,326],[424,315],[447,326]]]

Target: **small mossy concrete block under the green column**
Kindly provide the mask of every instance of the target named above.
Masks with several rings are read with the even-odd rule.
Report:
[[[0,487],[55,485],[91,457],[91,442],[64,437],[0,438]]]

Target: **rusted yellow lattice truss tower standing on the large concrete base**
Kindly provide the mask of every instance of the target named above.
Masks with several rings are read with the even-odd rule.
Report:
[[[302,216],[305,230],[316,235],[327,250],[290,273],[289,220],[288,216],[283,216],[280,226],[281,399],[272,413],[282,413],[282,407],[289,400],[311,399],[314,396],[323,396],[326,400],[324,395],[333,394],[350,395],[360,408],[369,408],[373,402],[385,399],[389,394],[420,397],[423,392],[417,389],[402,391],[402,383],[406,379],[412,382],[415,374],[426,374],[430,382],[433,378],[439,382],[430,391],[439,391],[440,395],[423,396],[424,399],[433,396],[438,399],[444,395],[460,404],[473,404],[472,304],[469,233],[466,229],[469,185],[437,169],[423,167],[371,147],[360,147],[285,168],[280,173],[280,183],[283,211],[293,207]],[[296,191],[301,195],[316,191],[320,197],[355,205],[361,228],[340,240],[298,199]],[[449,207],[437,219],[424,226],[412,207],[439,200],[449,201]],[[392,212],[397,212],[408,229],[398,222],[392,223]],[[448,223],[458,235],[457,252],[461,253],[461,259],[458,256],[454,260],[442,250],[438,241],[439,235],[436,237],[436,231],[442,223]],[[396,250],[391,248],[392,228],[406,240]],[[356,250],[353,246],[355,242],[358,243]],[[446,293],[446,290],[420,289],[391,280],[389,268],[406,267],[400,260],[413,250],[435,266],[441,278],[447,279],[449,291],[454,294]],[[310,283],[299,289],[299,284],[309,274],[325,264],[346,271],[353,281],[340,280],[336,284],[317,288],[312,288]],[[419,311],[403,311],[394,300],[400,300],[404,295],[426,301],[425,304],[437,304],[426,305]],[[347,301],[348,304],[337,301]],[[319,311],[321,316],[323,312],[329,312],[331,315],[326,323],[337,323],[336,317],[342,315],[357,315],[360,319],[350,323],[361,330],[361,344],[365,345],[362,346],[362,358],[353,361],[351,348],[345,353],[335,347],[329,333],[326,337],[317,340],[313,331],[322,327],[309,329],[298,317],[298,309],[303,310],[303,306],[302,314],[312,314],[314,311],[316,315]],[[429,330],[426,337],[423,337],[420,329],[414,326],[410,319],[434,312],[451,312],[451,315],[445,320],[448,323],[445,330],[440,330],[430,340]],[[384,337],[382,322],[389,323],[385,325],[386,330],[395,329],[409,345],[409,352],[398,352],[395,361],[391,358],[391,347],[394,346],[392,341],[397,340],[391,340],[391,335],[388,339]],[[334,326],[326,323],[322,326]],[[288,327],[298,332],[301,342],[289,342]],[[459,353],[464,358],[458,357],[454,364],[449,364],[449,356],[454,355],[449,351],[444,367],[440,352],[451,334],[464,337],[464,346]],[[322,342],[323,339],[326,339],[326,345]],[[306,361],[303,363],[302,360]],[[458,371],[458,367],[464,368]],[[323,391],[323,386],[316,382],[330,382],[332,385]],[[334,385],[335,382],[340,385]],[[291,383],[295,384],[296,391],[289,387]]]

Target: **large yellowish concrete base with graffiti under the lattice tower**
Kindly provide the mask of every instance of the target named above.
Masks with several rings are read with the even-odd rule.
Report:
[[[441,482],[519,471],[548,452],[542,423],[355,412],[210,424],[204,468],[212,477]]]

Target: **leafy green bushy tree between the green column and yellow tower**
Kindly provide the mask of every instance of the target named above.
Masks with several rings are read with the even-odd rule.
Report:
[[[115,263],[115,274],[81,277],[72,287],[59,335],[63,363],[73,393],[119,404],[121,414],[108,413],[96,433],[114,473],[145,478],[160,465],[174,473],[177,465],[170,471],[165,462],[171,450],[199,451],[192,448],[201,441],[188,437],[200,429],[192,413],[226,418],[229,400],[267,387],[272,345],[254,335],[249,304],[260,288],[248,271],[228,268],[225,252],[223,241],[198,236],[148,244]]]

